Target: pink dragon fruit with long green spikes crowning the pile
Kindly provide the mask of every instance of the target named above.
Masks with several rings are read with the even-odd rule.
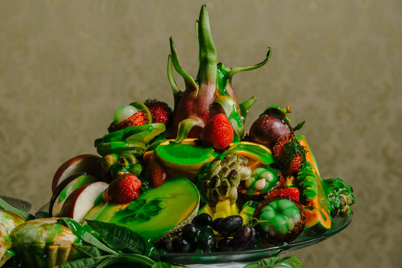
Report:
[[[199,138],[205,124],[215,115],[224,113],[233,126],[238,139],[244,137],[244,121],[251,105],[257,100],[238,103],[232,88],[232,77],[240,71],[259,68],[268,62],[271,49],[263,62],[248,67],[225,68],[218,63],[218,55],[211,36],[209,17],[206,6],[201,8],[199,20],[196,22],[199,45],[199,68],[194,80],[181,67],[173,39],[170,38],[170,52],[167,73],[174,96],[174,112],[170,135],[176,142],[185,138]],[[173,67],[184,79],[185,90],[181,91],[173,77]]]

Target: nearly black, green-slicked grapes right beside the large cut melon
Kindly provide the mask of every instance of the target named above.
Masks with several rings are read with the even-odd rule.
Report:
[[[178,236],[165,237],[156,247],[168,253],[211,252],[215,247],[212,222],[209,214],[201,213],[191,223],[184,225]]]

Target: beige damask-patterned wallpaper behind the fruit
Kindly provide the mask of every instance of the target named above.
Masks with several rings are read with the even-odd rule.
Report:
[[[291,254],[306,267],[400,267],[399,0],[1,1],[0,195],[36,211],[64,160],[96,154],[117,107],[148,97],[172,105],[169,37],[195,76],[202,4],[226,66],[273,49],[267,65],[233,80],[240,101],[259,98],[248,126],[265,107],[290,104],[293,124],[307,120],[299,133],[323,177],[354,187],[352,224]]]

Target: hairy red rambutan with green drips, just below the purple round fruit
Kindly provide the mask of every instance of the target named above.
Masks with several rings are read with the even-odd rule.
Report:
[[[292,135],[285,135],[277,140],[272,153],[279,170],[287,176],[300,171],[307,150]]]

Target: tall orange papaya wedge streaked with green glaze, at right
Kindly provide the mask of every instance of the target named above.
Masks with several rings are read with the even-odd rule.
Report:
[[[316,232],[325,232],[331,228],[330,203],[324,192],[321,176],[318,172],[316,159],[311,152],[306,138],[302,135],[296,139],[308,150],[307,162],[297,175],[296,187],[300,191],[300,202],[305,206],[306,228]]]

